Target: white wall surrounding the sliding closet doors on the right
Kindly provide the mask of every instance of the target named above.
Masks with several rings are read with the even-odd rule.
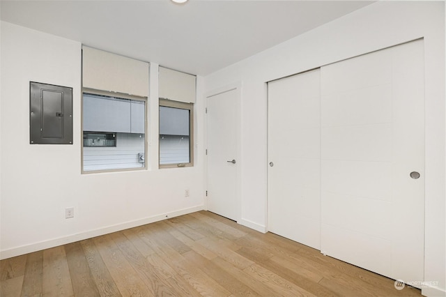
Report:
[[[380,1],[205,77],[205,93],[242,87],[242,224],[267,226],[266,82],[385,47],[424,38],[426,220],[424,287],[445,295],[445,2]],[[236,46],[236,45],[235,45]],[[410,236],[410,230],[405,230]]]

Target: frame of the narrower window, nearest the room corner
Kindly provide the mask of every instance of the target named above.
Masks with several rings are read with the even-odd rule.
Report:
[[[178,109],[189,110],[189,162],[188,163],[172,163],[172,164],[160,164],[160,107],[172,107]],[[180,102],[175,100],[169,100],[166,98],[159,98],[158,104],[158,168],[180,168],[180,167],[193,167],[194,166],[194,103]]]

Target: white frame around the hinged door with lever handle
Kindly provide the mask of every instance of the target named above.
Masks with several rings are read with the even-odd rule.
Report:
[[[203,111],[204,116],[205,116],[205,143],[206,143],[206,147],[204,150],[204,160],[205,160],[205,164],[204,164],[204,209],[206,211],[208,211],[208,197],[206,195],[206,191],[208,189],[208,183],[209,183],[209,175],[208,175],[208,155],[206,153],[206,150],[208,149],[208,113],[207,113],[207,109],[208,109],[208,99],[217,95],[220,95],[222,93],[226,93],[229,91],[233,91],[236,90],[236,98],[238,100],[238,103],[236,104],[236,106],[234,107],[235,110],[234,112],[236,112],[236,160],[237,160],[237,167],[236,167],[236,201],[237,201],[237,205],[236,205],[236,222],[240,223],[241,218],[242,218],[242,165],[243,165],[243,160],[242,160],[242,154],[241,154],[241,113],[240,113],[240,109],[241,109],[241,102],[242,102],[242,83],[241,82],[233,82],[231,84],[226,84],[225,86],[221,86],[217,89],[213,89],[212,91],[208,91],[206,93],[204,93],[204,99],[205,99],[205,110]]]

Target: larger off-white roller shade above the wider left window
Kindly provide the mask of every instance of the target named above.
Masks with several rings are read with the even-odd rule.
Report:
[[[84,88],[148,97],[148,63],[82,47]]]

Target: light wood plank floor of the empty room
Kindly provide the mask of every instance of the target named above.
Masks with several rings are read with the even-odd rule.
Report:
[[[6,296],[421,296],[200,211],[0,261]]]

